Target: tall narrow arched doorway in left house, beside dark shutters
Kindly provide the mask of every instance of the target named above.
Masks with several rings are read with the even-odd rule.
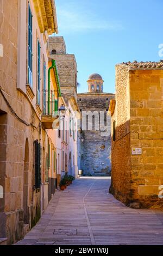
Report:
[[[26,139],[24,151],[24,172],[23,172],[23,221],[28,223],[28,172],[29,172],[29,145]]]

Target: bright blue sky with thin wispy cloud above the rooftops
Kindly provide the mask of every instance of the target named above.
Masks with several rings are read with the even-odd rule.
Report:
[[[158,61],[163,43],[162,0],[55,0],[59,34],[78,65],[78,92],[87,92],[92,73],[104,92],[115,92],[115,65]],[[163,57],[162,57],[163,58]]]

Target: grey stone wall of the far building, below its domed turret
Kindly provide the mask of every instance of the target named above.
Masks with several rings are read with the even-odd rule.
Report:
[[[80,111],[101,111],[108,112],[109,101],[114,99],[114,94],[108,93],[83,93],[78,94],[78,106]],[[87,125],[91,122],[87,120]],[[100,121],[100,118],[99,118]],[[82,124],[84,119],[82,119]],[[110,121],[108,126],[110,126]],[[82,128],[83,129],[83,128]],[[100,130],[83,130],[82,138],[84,141],[81,146],[81,166],[83,174],[85,175],[110,175],[111,163],[110,163],[110,150],[111,150],[111,137],[110,128],[109,135],[101,136]]]

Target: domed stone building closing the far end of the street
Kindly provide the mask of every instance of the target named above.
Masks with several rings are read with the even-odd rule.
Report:
[[[101,75],[92,74],[87,81],[88,92],[78,94],[82,113],[81,168],[84,175],[110,175],[111,137],[107,112],[114,94],[103,93],[103,82]]]

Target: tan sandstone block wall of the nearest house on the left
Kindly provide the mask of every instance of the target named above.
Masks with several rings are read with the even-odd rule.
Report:
[[[17,89],[19,4],[20,0],[2,0],[0,4],[0,43],[3,45],[0,86],[18,117],[28,124],[32,123],[35,128],[18,120],[0,93],[0,185],[3,186],[3,198],[0,198],[0,237],[7,237],[8,244],[22,239],[26,230],[39,220],[41,214],[40,191],[34,190],[34,141],[40,141],[43,131],[40,134],[40,117],[36,108],[28,96]],[[22,86],[26,87],[26,84]],[[28,222],[24,220],[25,202]]]

